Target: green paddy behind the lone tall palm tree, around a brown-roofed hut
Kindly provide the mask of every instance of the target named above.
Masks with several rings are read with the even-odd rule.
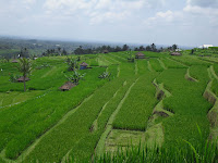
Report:
[[[33,71],[29,76],[31,80],[26,83],[27,89],[32,90],[46,90],[49,88],[60,87],[64,80],[64,75],[68,74],[66,64],[62,60],[57,60],[56,58],[39,58],[33,62]],[[48,65],[48,67],[43,67],[38,70],[38,66]],[[23,91],[23,83],[11,83],[10,74],[20,75],[17,72],[17,63],[3,63],[3,71],[0,72],[0,91]]]

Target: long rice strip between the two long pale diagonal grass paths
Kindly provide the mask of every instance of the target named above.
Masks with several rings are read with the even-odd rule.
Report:
[[[130,70],[130,72],[132,70]],[[121,75],[125,74],[121,73]],[[64,123],[48,134],[35,147],[34,151],[26,159],[26,162],[36,158],[38,158],[41,162],[61,161],[62,158],[70,151],[74,153],[77,160],[90,158],[100,135],[105,129],[107,120],[116,110],[119,101],[123,97],[123,93],[126,91],[128,86],[131,84],[131,82],[130,84],[128,82],[128,85],[123,87],[125,79],[130,82],[126,77],[114,78],[100,89],[96,90],[87,102],[83,103]],[[121,89],[119,90],[119,88]],[[110,101],[118,90],[119,92],[116,99]],[[110,104],[108,104],[101,112],[102,106],[108,101],[110,101]],[[97,120],[97,130],[90,131],[93,123],[98,117],[100,112],[101,114]]]

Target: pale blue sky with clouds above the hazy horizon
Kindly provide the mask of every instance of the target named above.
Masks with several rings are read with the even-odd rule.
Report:
[[[218,0],[0,0],[0,35],[218,46]]]

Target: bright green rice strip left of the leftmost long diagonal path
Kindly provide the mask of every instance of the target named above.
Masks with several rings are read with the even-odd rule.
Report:
[[[16,158],[68,111],[78,105],[85,97],[106,83],[98,79],[98,75],[104,71],[105,68],[87,70],[85,80],[68,92],[50,91],[44,97],[0,112],[0,149],[5,148],[8,158]]]

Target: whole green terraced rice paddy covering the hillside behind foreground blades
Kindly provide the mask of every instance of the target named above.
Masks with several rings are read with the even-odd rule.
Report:
[[[22,83],[9,82],[10,73],[19,74],[16,63],[1,64],[0,162],[101,162],[106,152],[119,154],[119,147],[152,153],[158,147],[167,154],[216,140],[213,58],[145,54],[134,62],[128,52],[81,57],[92,68],[80,71],[85,78],[70,91],[59,90],[71,74],[62,57],[33,61],[27,92]],[[98,78],[105,71],[110,80]]]

